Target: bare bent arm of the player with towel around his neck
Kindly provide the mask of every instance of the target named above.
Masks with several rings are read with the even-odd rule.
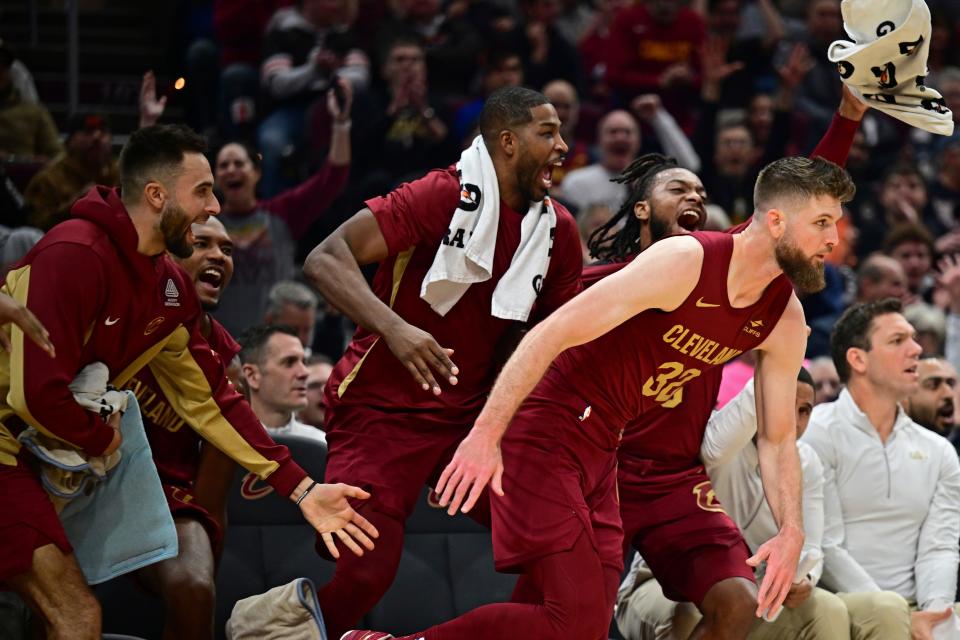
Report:
[[[424,391],[440,394],[434,377],[457,384],[460,370],[433,336],[407,323],[384,304],[364,279],[360,266],[388,256],[387,241],[370,209],[340,225],[307,256],[303,272],[330,304],[358,325],[380,335]]]

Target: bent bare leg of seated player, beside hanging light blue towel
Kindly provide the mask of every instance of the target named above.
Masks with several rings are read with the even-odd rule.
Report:
[[[137,577],[163,599],[164,640],[208,640],[216,607],[213,546],[198,520],[178,517],[174,525],[177,557],[144,567]]]

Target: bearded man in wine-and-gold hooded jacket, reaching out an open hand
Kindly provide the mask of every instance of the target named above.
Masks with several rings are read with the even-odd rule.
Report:
[[[85,411],[68,384],[93,362],[122,387],[149,364],[189,426],[298,503],[322,532],[355,553],[376,529],[347,503],[368,494],[317,484],[263,431],[203,338],[195,285],[166,256],[193,251],[191,225],[217,215],[203,139],[182,126],[135,132],[120,156],[123,196],[95,187],[7,274],[4,290],[50,332],[57,357],[14,327],[0,354],[0,581],[39,615],[49,637],[99,638],[100,608],[53,504],[16,440],[28,425],[97,456],[121,443],[120,415]],[[355,540],[354,540],[355,539]],[[337,552],[338,553],[338,552]]]

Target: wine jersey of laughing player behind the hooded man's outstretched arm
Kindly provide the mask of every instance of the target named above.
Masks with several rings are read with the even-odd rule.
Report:
[[[229,367],[233,357],[240,353],[237,341],[213,318],[210,318],[207,342],[224,368]],[[124,388],[137,396],[160,480],[192,487],[200,467],[200,435],[170,406],[149,366],[134,374]]]

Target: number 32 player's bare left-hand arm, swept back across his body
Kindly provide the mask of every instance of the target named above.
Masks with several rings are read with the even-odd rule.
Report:
[[[632,263],[579,294],[520,341],[450,464],[440,475],[440,505],[453,515],[470,511],[491,482],[503,495],[500,440],[520,403],[562,351],[594,340],[647,309],[676,309],[700,276],[703,248],[690,237],[667,238]],[[665,274],[669,274],[667,277]]]

